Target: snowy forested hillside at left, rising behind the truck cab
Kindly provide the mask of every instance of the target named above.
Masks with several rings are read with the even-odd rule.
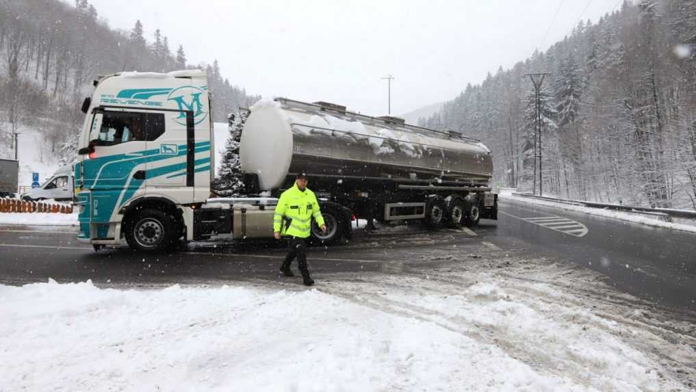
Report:
[[[181,45],[173,51],[159,29],[146,37],[139,20],[118,31],[88,0],[0,0],[0,155],[12,156],[13,135],[33,127],[69,162],[79,108],[97,75],[184,68],[207,70],[216,121],[255,100],[221,75],[217,61],[191,65]]]

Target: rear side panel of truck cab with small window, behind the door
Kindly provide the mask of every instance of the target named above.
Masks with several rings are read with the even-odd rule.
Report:
[[[175,203],[193,200],[193,148],[189,143],[190,113],[187,111],[150,111],[147,118],[147,149],[157,151],[148,160],[145,188],[148,195],[162,195]],[[189,146],[191,144],[191,146]]]

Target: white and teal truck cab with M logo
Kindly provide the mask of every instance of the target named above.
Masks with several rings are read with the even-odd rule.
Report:
[[[192,240],[214,154],[205,72],[120,72],[95,81],[74,168],[82,242],[159,248]]]

